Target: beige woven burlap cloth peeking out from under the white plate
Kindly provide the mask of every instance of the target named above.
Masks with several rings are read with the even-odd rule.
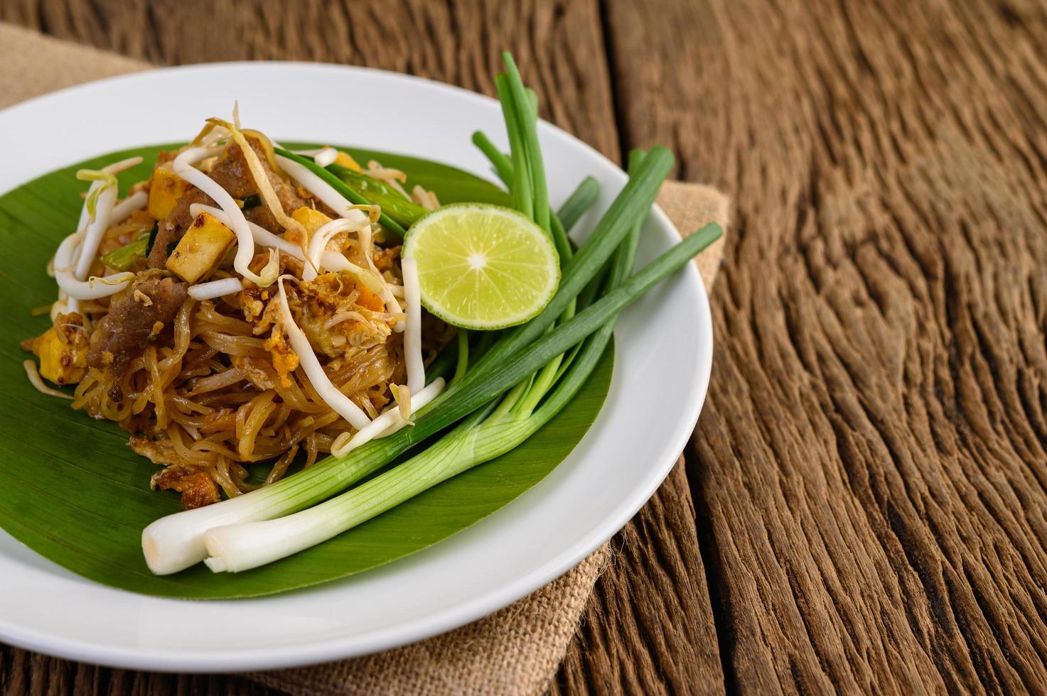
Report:
[[[150,67],[0,23],[0,108]],[[659,204],[684,233],[710,221],[727,227],[728,199],[714,188],[670,181]],[[722,245],[720,240],[697,259],[706,287],[716,275]],[[449,633],[365,657],[248,676],[307,695],[540,693],[556,673],[610,553],[604,544],[533,594]]]

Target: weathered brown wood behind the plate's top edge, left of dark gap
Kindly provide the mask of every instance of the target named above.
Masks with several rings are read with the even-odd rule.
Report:
[[[543,116],[617,158],[598,12],[595,0],[7,0],[0,21],[157,65],[320,61],[408,72],[486,94],[494,94],[492,75],[509,49],[542,94]]]

